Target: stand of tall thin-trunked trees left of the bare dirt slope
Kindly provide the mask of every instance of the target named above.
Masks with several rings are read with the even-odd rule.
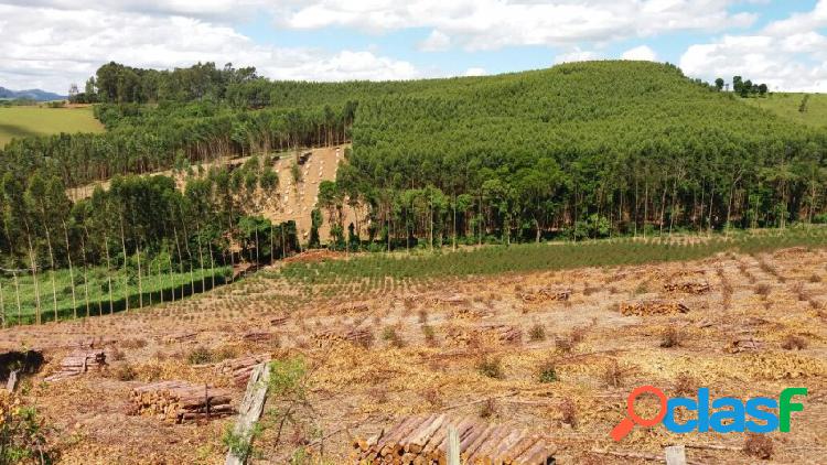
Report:
[[[234,169],[191,169],[182,185],[165,175],[115,176],[108,188],[98,186],[77,202],[69,201],[57,176],[35,172],[21,183],[7,173],[0,194],[0,278],[17,284],[19,278],[31,275],[40,322],[47,310],[57,318],[55,273],[44,279],[44,270],[68,269],[77,310],[83,304],[75,283],[87,282],[95,268],[135,268],[142,306],[141,277],[193,277],[194,270],[240,261],[272,262],[298,250],[299,244],[294,221],[272,224],[258,215],[262,205],[251,201],[255,196],[277,202],[278,176],[271,164],[254,156]],[[214,285],[202,283],[201,289]],[[41,302],[41,290],[50,288],[52,301]],[[110,278],[108,307],[119,300],[128,310],[130,296],[112,295],[116,288]]]

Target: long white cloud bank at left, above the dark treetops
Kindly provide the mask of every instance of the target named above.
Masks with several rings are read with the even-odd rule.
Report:
[[[218,3],[218,2],[214,2]],[[0,85],[65,93],[104,63],[170,68],[195,62],[256,66],[271,78],[407,79],[419,72],[373,52],[258,45],[227,25],[181,15],[0,4]]]

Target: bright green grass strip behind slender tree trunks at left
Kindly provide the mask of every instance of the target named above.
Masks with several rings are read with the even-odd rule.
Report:
[[[146,272],[146,270],[143,270]],[[162,300],[169,302],[179,300],[193,293],[203,292],[224,283],[228,268],[216,269],[213,280],[208,269],[194,270],[192,273],[175,273],[163,275],[143,275],[141,278],[141,290],[143,291],[142,303],[144,306],[160,303]],[[17,324],[31,324],[35,322],[35,285],[31,274],[18,275],[17,283],[13,277],[0,279],[0,315],[4,315],[7,326]],[[82,269],[74,270],[75,298],[72,298],[72,278],[66,269],[54,273],[54,294],[52,292],[52,273],[44,272],[37,275],[37,293],[40,294],[42,321],[55,320],[55,296],[57,301],[57,318],[66,320],[74,316],[97,316],[126,309],[129,300],[129,309],[137,309],[141,303],[138,293],[138,277],[122,270],[112,271],[107,274],[105,268],[93,268],[86,273]],[[111,305],[109,284],[111,283]],[[193,285],[194,283],[194,285]],[[20,306],[18,306],[20,301]],[[73,304],[74,303],[74,304]],[[88,307],[87,307],[88,303]]]

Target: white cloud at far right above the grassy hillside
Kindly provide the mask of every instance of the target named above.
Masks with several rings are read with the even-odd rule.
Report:
[[[741,75],[771,89],[827,91],[827,0],[749,35],[727,34],[691,45],[680,57],[690,76],[712,80]]]

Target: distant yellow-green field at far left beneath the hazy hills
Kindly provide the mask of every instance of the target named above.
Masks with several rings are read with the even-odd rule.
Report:
[[[61,132],[103,132],[92,107],[0,107],[0,148],[12,139]]]

